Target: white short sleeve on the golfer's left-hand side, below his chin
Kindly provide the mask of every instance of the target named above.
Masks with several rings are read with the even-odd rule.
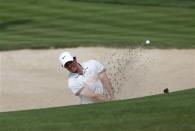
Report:
[[[69,78],[68,80],[68,87],[71,89],[71,91],[78,96],[80,91],[83,88],[83,83],[79,82],[76,79],[73,78]]]

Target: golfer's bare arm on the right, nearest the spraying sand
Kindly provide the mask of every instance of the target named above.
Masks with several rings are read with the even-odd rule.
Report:
[[[113,90],[113,87],[112,87],[112,83],[110,82],[108,76],[106,75],[106,72],[102,72],[99,74],[99,78],[103,84],[103,86],[106,88],[106,90],[108,91],[108,94],[111,96],[111,97],[114,97],[114,90]]]

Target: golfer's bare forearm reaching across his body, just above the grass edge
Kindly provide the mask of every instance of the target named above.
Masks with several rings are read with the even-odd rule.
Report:
[[[110,100],[109,98],[107,98],[105,96],[95,94],[88,87],[84,87],[80,91],[79,96],[84,96],[84,97],[90,98],[90,99],[94,100],[95,102],[104,102],[104,101],[109,101]]]

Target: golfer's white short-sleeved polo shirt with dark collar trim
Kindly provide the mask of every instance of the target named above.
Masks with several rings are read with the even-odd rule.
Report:
[[[68,87],[75,95],[79,95],[86,84],[94,93],[99,95],[106,95],[106,89],[99,80],[99,73],[105,71],[105,67],[96,60],[89,60],[81,64],[83,67],[83,75],[77,73],[70,73],[68,77]],[[85,86],[86,87],[86,86]],[[90,98],[79,96],[81,104],[94,103]]]

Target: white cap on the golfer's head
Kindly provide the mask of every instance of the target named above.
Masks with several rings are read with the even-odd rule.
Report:
[[[64,67],[64,65],[69,62],[69,61],[73,61],[74,60],[74,55],[72,55],[69,52],[63,52],[60,54],[59,56],[59,62],[60,64]]]

